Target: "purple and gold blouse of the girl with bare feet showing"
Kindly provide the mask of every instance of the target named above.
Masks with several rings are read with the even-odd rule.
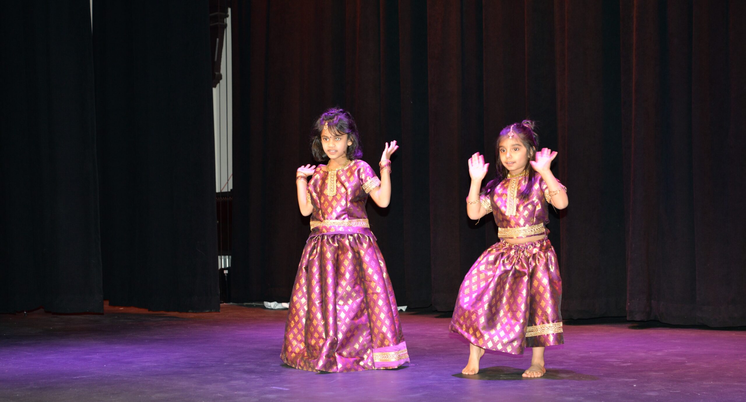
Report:
[[[518,197],[530,185],[528,172],[525,170],[515,176],[508,175],[492,193],[480,196],[482,207],[495,216],[498,236],[501,238],[520,239],[546,233],[545,224],[549,223],[547,205],[551,199],[547,196],[547,183],[539,173],[536,176],[533,191],[526,201]],[[562,183],[560,187],[567,191]]]

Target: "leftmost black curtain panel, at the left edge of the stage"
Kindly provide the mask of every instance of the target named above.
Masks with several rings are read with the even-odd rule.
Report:
[[[100,313],[89,2],[3,1],[0,38],[0,313]]]

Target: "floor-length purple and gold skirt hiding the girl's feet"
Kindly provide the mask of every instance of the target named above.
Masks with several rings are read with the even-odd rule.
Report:
[[[372,237],[308,239],[280,358],[295,368],[333,372],[396,368],[410,361],[386,263]]]

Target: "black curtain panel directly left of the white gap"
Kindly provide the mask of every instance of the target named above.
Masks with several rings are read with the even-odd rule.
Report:
[[[209,9],[93,7],[104,298],[219,310]]]

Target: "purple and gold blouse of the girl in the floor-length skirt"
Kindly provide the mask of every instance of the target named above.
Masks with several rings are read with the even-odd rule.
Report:
[[[308,181],[306,195],[313,204],[310,236],[360,233],[375,238],[366,201],[377,186],[380,179],[363,160],[350,160],[338,169],[319,165]]]

